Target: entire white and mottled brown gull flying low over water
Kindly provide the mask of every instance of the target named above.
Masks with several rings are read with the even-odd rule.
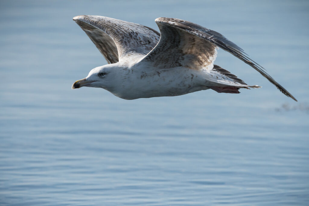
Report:
[[[198,24],[161,17],[155,19],[159,33],[150,27],[104,16],[80,15],[73,20],[109,64],[92,69],[86,78],[74,82],[72,89],[99,87],[130,100],[178,96],[207,89],[238,94],[240,88],[260,88],[214,65],[217,48],[222,48],[297,101],[243,49],[220,33]]]

